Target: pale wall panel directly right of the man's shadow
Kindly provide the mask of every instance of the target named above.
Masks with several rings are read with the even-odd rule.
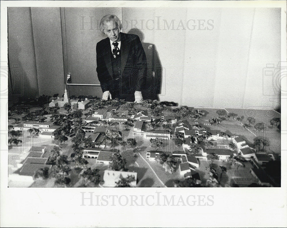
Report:
[[[179,27],[185,24],[186,8],[156,8],[155,16],[160,16],[156,28],[154,43],[162,64],[161,101],[180,102],[183,79],[183,58],[185,30]],[[174,24],[174,26],[173,26]]]

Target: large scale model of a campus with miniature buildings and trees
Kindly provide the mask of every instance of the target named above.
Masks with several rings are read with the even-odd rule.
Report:
[[[9,107],[9,187],[280,187],[280,113],[42,95]]]

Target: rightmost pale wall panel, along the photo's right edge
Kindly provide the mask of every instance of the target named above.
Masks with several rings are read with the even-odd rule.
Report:
[[[281,60],[280,15],[279,8],[255,9],[243,108],[268,109],[280,104],[278,77],[263,74],[266,64],[276,68]]]

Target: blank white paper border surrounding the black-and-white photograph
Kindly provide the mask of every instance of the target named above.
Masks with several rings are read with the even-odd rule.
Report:
[[[286,1],[1,1],[1,63],[7,59],[7,7],[280,7],[286,62]],[[2,66],[2,65],[1,65]],[[2,75],[1,75],[2,76]],[[1,90],[8,86],[1,77]],[[285,88],[284,88],[285,86]],[[282,91],[287,91],[282,85]],[[280,188],[7,188],[7,96],[0,94],[1,227],[286,227],[286,153]],[[281,142],[287,142],[287,99],[281,98]],[[286,143],[281,150],[287,151]],[[80,206],[94,195],[213,195],[208,206]],[[152,198],[152,197],[151,197]],[[177,198],[178,199],[178,198]],[[96,197],[94,197],[96,200]],[[101,201],[100,203],[102,203]],[[211,201],[210,201],[211,203]],[[93,204],[96,204],[95,202]],[[159,204],[162,204],[160,202]],[[181,205],[181,204],[180,204]]]

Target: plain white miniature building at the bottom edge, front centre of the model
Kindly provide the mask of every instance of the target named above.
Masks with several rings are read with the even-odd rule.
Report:
[[[124,171],[114,171],[105,170],[104,171],[104,184],[103,187],[116,187],[116,182],[121,178],[127,178],[128,176],[133,176],[134,180],[129,183],[130,187],[136,187],[137,185],[137,173],[136,172],[124,172]]]

